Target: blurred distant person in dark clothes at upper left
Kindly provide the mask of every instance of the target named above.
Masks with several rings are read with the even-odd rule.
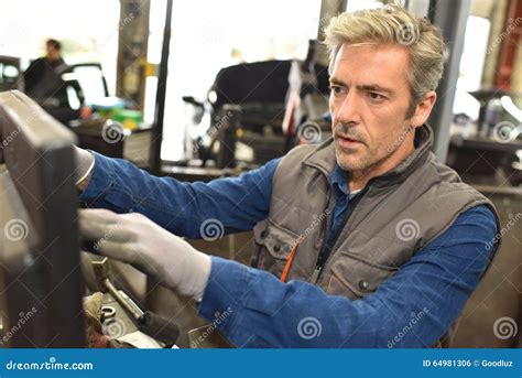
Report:
[[[77,118],[88,118],[90,108],[84,106],[85,96],[76,79],[64,80],[63,74],[70,67],[62,57],[62,44],[56,40],[45,42],[46,54],[34,60],[23,73],[25,93],[39,102],[51,116],[64,125]],[[73,109],[67,88],[72,88],[81,105]]]

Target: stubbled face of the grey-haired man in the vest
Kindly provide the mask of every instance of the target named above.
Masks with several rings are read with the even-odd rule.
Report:
[[[409,53],[400,45],[344,44],[334,62],[329,100],[337,163],[381,174],[413,149]]]

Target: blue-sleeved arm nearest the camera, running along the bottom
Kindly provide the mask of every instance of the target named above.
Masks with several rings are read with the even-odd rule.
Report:
[[[429,347],[476,289],[496,231],[488,207],[471,208],[355,301],[213,257],[199,313],[241,347]]]

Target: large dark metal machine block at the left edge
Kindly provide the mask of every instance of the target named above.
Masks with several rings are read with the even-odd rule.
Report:
[[[0,122],[7,168],[0,174],[0,227],[7,230],[0,233],[0,293],[8,346],[83,347],[74,136],[18,90],[0,94]]]

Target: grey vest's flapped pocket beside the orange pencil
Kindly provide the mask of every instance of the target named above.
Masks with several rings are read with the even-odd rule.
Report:
[[[269,270],[276,277],[281,277],[290,251],[297,242],[298,236],[270,219],[255,225],[253,235],[252,267]]]

